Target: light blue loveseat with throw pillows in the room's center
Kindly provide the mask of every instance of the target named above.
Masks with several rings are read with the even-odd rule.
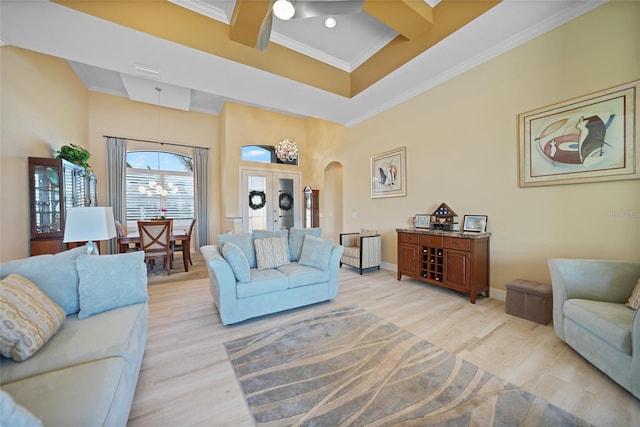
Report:
[[[256,230],[220,235],[219,246],[201,247],[209,270],[211,295],[222,323],[229,325],[334,298],[344,248],[319,236],[319,228]],[[282,265],[264,268],[260,265],[259,243],[278,238],[282,244],[279,249],[285,251],[285,246],[288,257],[276,262]]]

